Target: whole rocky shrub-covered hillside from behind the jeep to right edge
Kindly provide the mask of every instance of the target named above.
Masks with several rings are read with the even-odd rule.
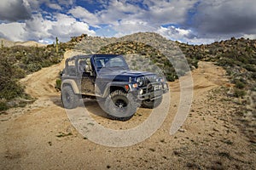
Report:
[[[200,60],[223,66],[230,83],[234,84],[226,89],[226,94],[236,105],[243,106],[239,119],[248,128],[248,136],[256,141],[256,40],[232,37],[207,45],[189,45],[145,32],[120,38],[82,35],[73,41],[78,42],[74,48],[86,54],[125,54],[132,69],[158,71],[168,81],[183,76],[189,69],[194,70]],[[183,66],[185,59],[189,67]]]

